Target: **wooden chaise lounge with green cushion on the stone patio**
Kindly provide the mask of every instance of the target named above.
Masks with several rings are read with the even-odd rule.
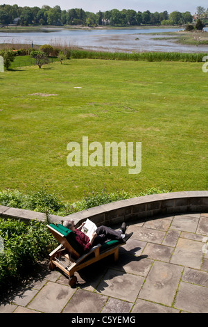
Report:
[[[77,282],[74,273],[89,266],[89,264],[112,254],[114,255],[114,261],[117,261],[119,259],[119,246],[125,244],[125,242],[112,240],[102,245],[98,244],[89,252],[83,254],[83,248],[78,244],[76,236],[71,230],[61,224],[55,225],[53,223],[47,225],[47,227],[60,243],[60,246],[49,254],[51,258],[49,268],[51,270],[55,269],[55,267],[61,269],[69,277],[70,286],[75,285]],[[69,260],[69,266],[61,261],[63,255]]]

